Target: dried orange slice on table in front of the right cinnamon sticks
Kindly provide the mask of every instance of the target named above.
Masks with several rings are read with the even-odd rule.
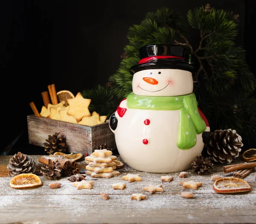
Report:
[[[212,188],[217,193],[236,193],[252,190],[246,181],[232,177],[221,178],[214,181]]]

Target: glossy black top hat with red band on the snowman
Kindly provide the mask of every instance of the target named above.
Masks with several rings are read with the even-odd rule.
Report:
[[[194,68],[184,58],[180,45],[154,44],[140,48],[140,61],[130,68],[131,75],[145,69],[181,69],[193,72]]]

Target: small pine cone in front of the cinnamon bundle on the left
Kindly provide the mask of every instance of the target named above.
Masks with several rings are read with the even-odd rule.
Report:
[[[49,180],[56,180],[61,176],[62,169],[60,168],[60,163],[55,163],[51,159],[48,160],[48,165],[43,164],[41,167],[41,173],[45,176],[45,178]]]

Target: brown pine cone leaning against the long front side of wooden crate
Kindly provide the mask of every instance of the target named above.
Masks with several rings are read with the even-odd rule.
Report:
[[[60,133],[55,133],[55,135],[48,135],[48,139],[45,140],[48,143],[44,143],[44,151],[49,154],[53,154],[54,152],[66,152],[67,144],[64,135],[58,137]]]

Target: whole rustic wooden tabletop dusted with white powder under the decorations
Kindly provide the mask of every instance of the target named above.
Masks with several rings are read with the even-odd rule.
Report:
[[[118,155],[117,155],[118,156]],[[38,155],[32,156],[38,163]],[[118,156],[119,157],[119,156]],[[11,156],[0,156],[0,223],[90,223],[90,224],[213,224],[213,223],[256,223],[256,181],[255,171],[244,178],[252,190],[236,194],[218,194],[212,190],[212,175],[231,176],[222,172],[223,165],[215,165],[209,175],[198,175],[188,170],[187,178],[179,173],[160,174],[137,172],[126,166],[119,169],[120,175],[93,179],[93,189],[77,190],[67,177],[58,182],[58,189],[48,187],[49,181],[40,176],[43,185],[34,189],[19,190],[9,186],[7,164]],[[121,160],[120,158],[118,158]],[[85,172],[84,160],[77,161],[81,173]],[[238,163],[241,161],[237,161]],[[152,164],[154,166],[154,164]],[[40,175],[41,164],[37,164],[36,173]],[[139,173],[141,182],[122,181],[128,173]],[[148,184],[162,184],[162,175],[172,175],[174,180],[163,183],[164,192],[150,194],[141,190]],[[180,181],[198,181],[203,186],[194,192],[194,198],[182,198]],[[113,190],[111,184],[123,182],[124,190]],[[109,193],[110,199],[104,201],[100,193]],[[147,200],[131,200],[132,193],[144,193]]]

